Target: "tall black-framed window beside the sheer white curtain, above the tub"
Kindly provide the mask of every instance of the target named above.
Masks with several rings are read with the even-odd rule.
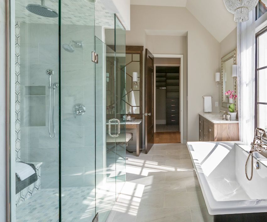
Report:
[[[267,27],[256,34],[255,127],[267,129]]]

